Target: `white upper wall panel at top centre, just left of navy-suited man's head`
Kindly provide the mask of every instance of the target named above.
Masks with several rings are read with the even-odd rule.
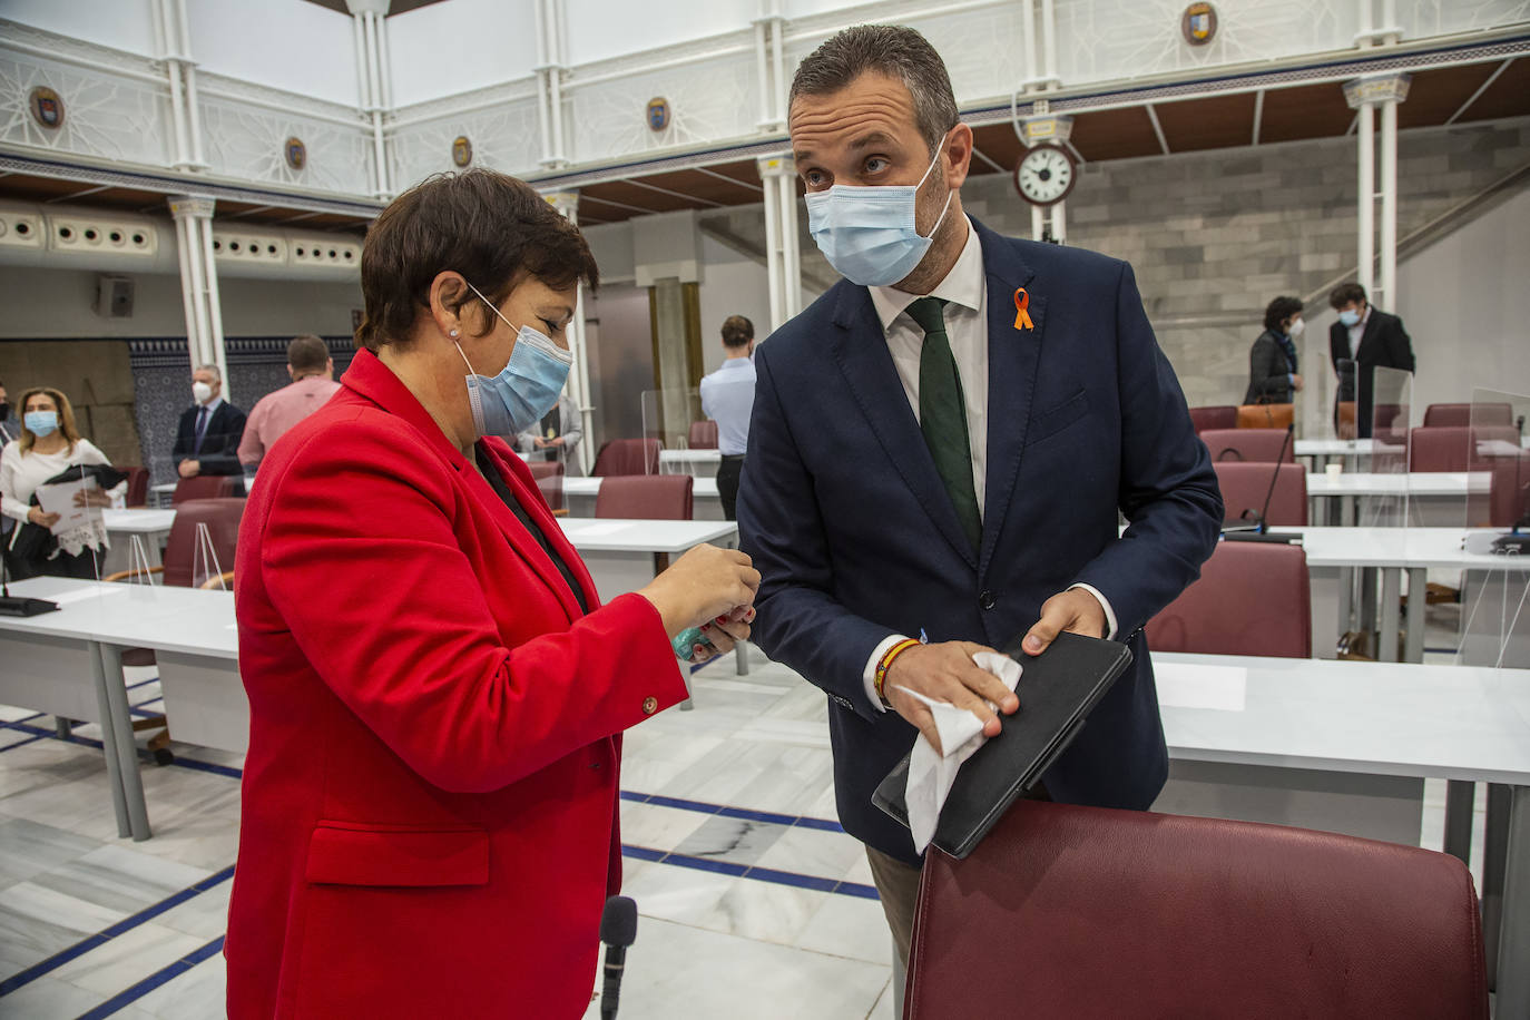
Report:
[[[453,0],[454,8],[465,0]],[[737,32],[759,17],[757,0],[705,0],[698,3],[610,3],[610,0],[563,0],[565,58],[586,64],[659,46]],[[529,5],[528,5],[529,6]],[[750,58],[753,60],[753,57]]]

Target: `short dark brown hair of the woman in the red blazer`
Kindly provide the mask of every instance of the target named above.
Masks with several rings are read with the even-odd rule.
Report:
[[[393,199],[367,231],[356,343],[373,352],[407,343],[431,281],[447,271],[496,307],[526,277],[552,287],[600,284],[584,236],[525,180],[482,168],[436,174]],[[451,307],[476,300],[464,291]]]

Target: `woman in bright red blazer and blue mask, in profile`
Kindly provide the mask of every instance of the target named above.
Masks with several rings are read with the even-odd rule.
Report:
[[[367,236],[366,350],[272,447],[239,538],[230,1017],[589,1003],[618,734],[685,697],[672,635],[748,633],[759,573],[701,546],[601,606],[499,439],[555,401],[580,280],[578,229],[488,171],[425,182]]]

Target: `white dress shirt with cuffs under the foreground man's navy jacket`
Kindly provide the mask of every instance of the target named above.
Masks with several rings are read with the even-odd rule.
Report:
[[[898,369],[903,391],[920,414],[920,355],[924,350],[924,330],[907,307],[921,297],[897,287],[868,287],[872,307],[887,336],[892,364]],[[956,359],[956,375],[961,379],[962,402],[967,411],[967,445],[972,450],[972,488],[978,495],[978,515],[984,514],[984,494],[988,474],[988,278],[982,266],[982,242],[972,220],[967,220],[967,243],[962,245],[956,265],[946,278],[935,284],[927,297],[944,298],[946,338]],[[1115,612],[1111,603],[1091,584],[1074,584],[1094,595],[1105,610],[1106,638],[1115,636]],[[877,697],[877,664],[887,648],[904,641],[904,635],[889,635],[872,648],[866,661],[863,679],[866,697],[883,710]]]

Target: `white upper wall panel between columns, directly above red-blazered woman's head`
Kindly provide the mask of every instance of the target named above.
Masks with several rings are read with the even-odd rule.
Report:
[[[529,78],[537,66],[532,0],[445,0],[395,14],[387,31],[393,106]]]

